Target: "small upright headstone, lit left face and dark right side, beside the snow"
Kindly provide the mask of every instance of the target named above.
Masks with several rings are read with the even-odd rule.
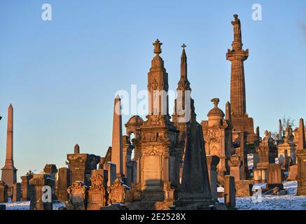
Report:
[[[236,190],[234,176],[224,176],[224,204],[227,207],[236,206]]]

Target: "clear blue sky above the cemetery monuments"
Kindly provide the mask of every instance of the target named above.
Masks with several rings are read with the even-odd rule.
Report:
[[[52,21],[41,20],[43,3],[53,6]],[[262,5],[262,21],[252,20],[253,3]],[[131,84],[146,88],[156,38],[172,89],[186,43],[197,119],[207,119],[213,97],[224,109],[234,13],[250,50],[246,107],[255,126],[263,133],[277,130],[284,115],[306,118],[305,1],[1,0],[0,167],[10,103],[18,176],[40,172],[47,163],[64,166],[76,143],[82,153],[104,155],[111,145],[114,94]]]

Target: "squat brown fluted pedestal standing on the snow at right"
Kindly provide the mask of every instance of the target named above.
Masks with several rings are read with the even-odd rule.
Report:
[[[284,190],[284,185],[281,181],[281,165],[270,164],[267,166],[267,189],[279,188]]]

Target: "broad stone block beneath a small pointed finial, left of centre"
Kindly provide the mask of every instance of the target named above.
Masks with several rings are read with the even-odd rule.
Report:
[[[68,154],[70,170],[70,183],[82,181],[85,186],[91,186],[92,169],[97,169],[97,164],[100,162],[100,157],[89,154]]]

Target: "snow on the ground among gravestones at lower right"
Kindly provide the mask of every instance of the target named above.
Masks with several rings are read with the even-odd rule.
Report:
[[[239,210],[306,210],[306,196],[295,196],[298,183],[285,181],[284,188],[288,195],[262,195],[261,202],[253,202],[252,197],[237,197],[236,208]],[[256,184],[253,189],[265,188],[265,184]],[[223,198],[218,199],[224,202]]]

